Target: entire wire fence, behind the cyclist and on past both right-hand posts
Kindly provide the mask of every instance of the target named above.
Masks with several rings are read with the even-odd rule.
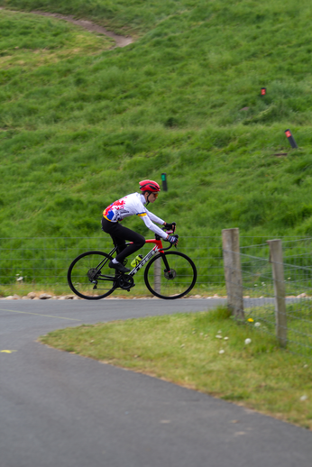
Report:
[[[240,243],[244,317],[259,331],[275,335],[279,297],[276,297],[267,238],[241,237]],[[312,356],[311,247],[312,238],[282,238],[287,348],[309,356]],[[17,293],[23,296],[38,289],[70,293],[67,271],[71,261],[82,252],[110,252],[111,249],[112,243],[105,236],[0,238],[0,295]],[[146,244],[142,254],[150,249]],[[197,266],[193,295],[226,295],[221,237],[182,237],[178,249]],[[137,274],[135,282],[132,295],[148,295],[142,273]],[[238,293],[238,289],[235,288],[234,293]]]

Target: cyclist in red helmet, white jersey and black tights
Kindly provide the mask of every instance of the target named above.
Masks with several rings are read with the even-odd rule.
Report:
[[[144,237],[137,232],[134,232],[120,222],[129,215],[138,215],[142,221],[152,232],[157,233],[163,240],[172,244],[178,243],[178,235],[170,235],[161,230],[160,227],[153,224],[164,225],[166,229],[172,229],[175,223],[167,224],[157,215],[153,215],[146,209],[144,205],[154,203],[161,191],[159,184],[153,180],[142,180],[139,182],[142,193],[132,193],[126,197],[118,199],[110,206],[107,206],[102,217],[102,230],[109,233],[117,246],[117,256],[113,261],[110,261],[109,267],[120,272],[129,272],[128,268],[124,267],[124,259],[142,248],[145,243]],[[125,241],[132,242],[130,245],[125,245]]]

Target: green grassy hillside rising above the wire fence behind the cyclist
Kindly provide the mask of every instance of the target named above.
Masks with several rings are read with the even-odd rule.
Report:
[[[0,237],[99,236],[103,209],[163,171],[170,190],[152,210],[182,235],[311,235],[309,0],[0,5],[136,39],[112,49],[69,23],[0,11]]]

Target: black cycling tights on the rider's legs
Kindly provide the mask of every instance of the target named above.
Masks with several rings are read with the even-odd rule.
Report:
[[[102,217],[102,230],[110,234],[114,245],[118,247],[116,260],[119,262],[123,262],[124,258],[140,250],[145,243],[145,238],[140,233],[127,229],[119,222],[107,221],[105,217]],[[126,240],[133,243],[125,246]]]

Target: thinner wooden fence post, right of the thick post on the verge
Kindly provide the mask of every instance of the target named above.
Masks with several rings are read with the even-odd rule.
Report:
[[[268,240],[267,243],[270,246],[270,262],[274,281],[276,336],[280,345],[285,347],[287,344],[287,317],[283,252],[280,240]]]

